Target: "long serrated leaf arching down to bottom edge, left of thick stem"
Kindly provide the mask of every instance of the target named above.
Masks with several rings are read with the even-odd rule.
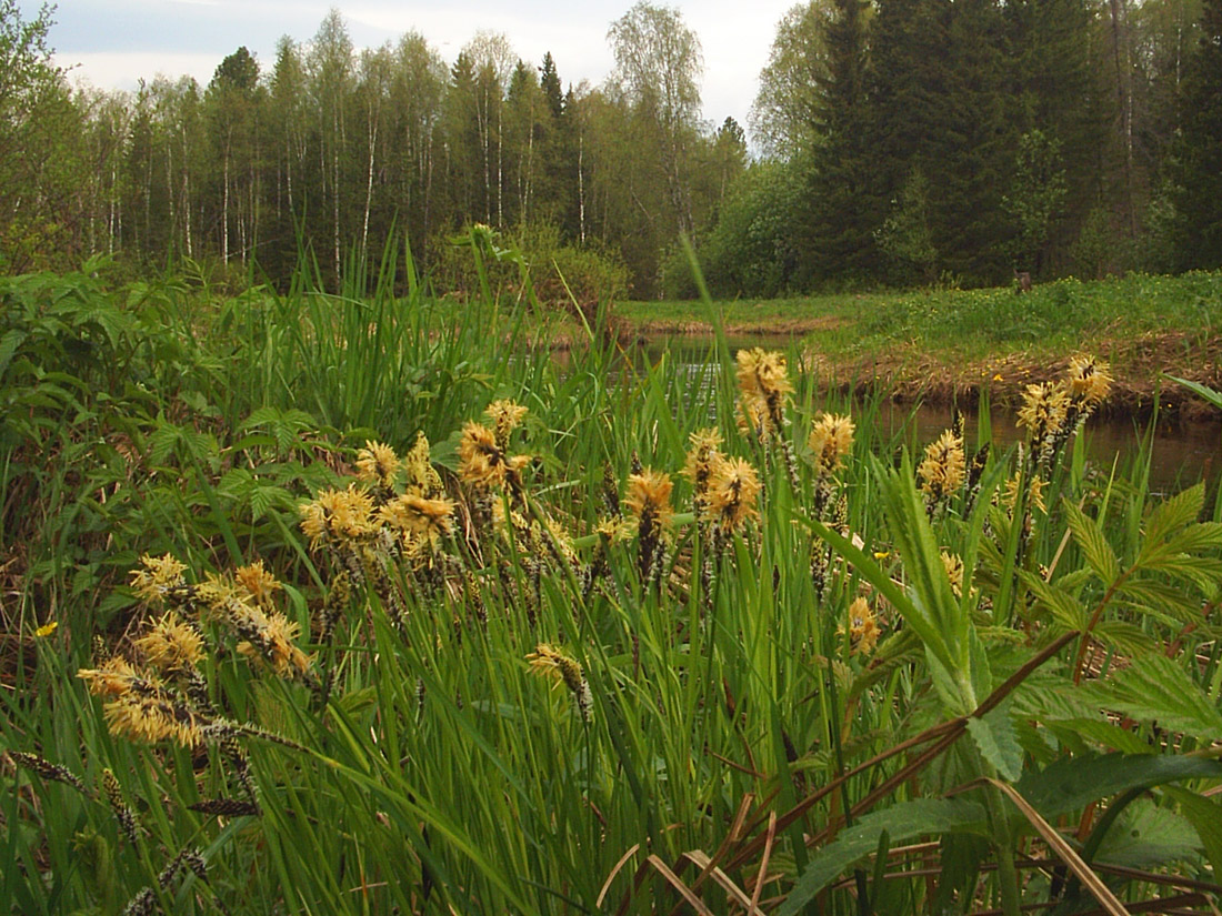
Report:
[[[866,815],[811,856],[781,906],[781,916],[793,916],[838,874],[874,852],[884,831],[892,845],[935,834],[987,835],[984,807],[962,799],[915,799]]]

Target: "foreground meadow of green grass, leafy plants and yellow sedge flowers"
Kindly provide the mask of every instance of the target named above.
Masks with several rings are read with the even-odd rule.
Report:
[[[913,446],[312,276],[0,280],[0,911],[1216,912],[1222,498],[1089,340]]]

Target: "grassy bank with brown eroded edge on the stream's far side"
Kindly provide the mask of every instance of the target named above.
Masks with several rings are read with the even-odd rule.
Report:
[[[970,401],[987,390],[1017,404],[1025,386],[1089,349],[1111,362],[1112,409],[1149,410],[1155,394],[1188,415],[1204,402],[1162,374],[1222,385],[1222,275],[1130,275],[1012,288],[838,294],[716,303],[731,333],[798,337],[815,371],[838,386],[877,385],[898,397]],[[643,335],[711,333],[701,303],[635,302],[617,309]]]

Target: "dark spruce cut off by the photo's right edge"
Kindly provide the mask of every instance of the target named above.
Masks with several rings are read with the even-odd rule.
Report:
[[[1176,204],[1185,266],[1222,266],[1222,0],[1205,0],[1201,40],[1182,89],[1183,139]]]

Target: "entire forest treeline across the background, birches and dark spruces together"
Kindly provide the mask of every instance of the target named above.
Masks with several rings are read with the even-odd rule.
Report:
[[[208,85],[70,88],[50,13],[0,0],[0,269],[97,252],[274,281],[406,234],[435,276],[474,222],[579,252],[638,297],[995,283],[1222,264],[1222,0],[814,0],[752,127],[700,121],[698,38],[638,2],[572,85],[502,35],[358,51],[335,11]]]

